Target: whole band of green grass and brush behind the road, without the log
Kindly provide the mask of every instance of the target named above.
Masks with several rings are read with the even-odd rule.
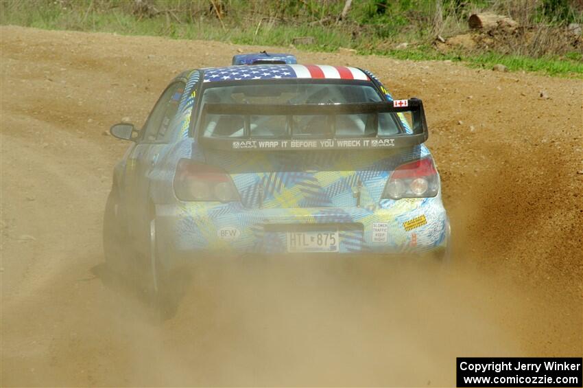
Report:
[[[575,3],[355,0],[342,17],[344,0],[1,0],[0,24],[250,45],[288,46],[298,36],[311,36],[313,43],[298,48],[344,47],[399,59],[453,60],[478,67],[501,63],[510,71],[580,76],[581,38],[575,46],[556,38],[564,35],[567,23],[583,23],[583,7]],[[523,34],[510,37],[516,41],[505,37],[499,47],[436,44],[437,36],[466,33],[469,14],[483,11],[512,16],[525,26]],[[525,41],[533,34],[534,44]],[[399,47],[401,43],[407,44]]]

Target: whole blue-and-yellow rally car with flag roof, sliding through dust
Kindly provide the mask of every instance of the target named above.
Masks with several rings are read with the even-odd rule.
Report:
[[[131,143],[106,205],[106,260],[139,258],[154,290],[214,253],[447,253],[423,103],[393,100],[369,71],[185,71],[143,128],[110,132]]]

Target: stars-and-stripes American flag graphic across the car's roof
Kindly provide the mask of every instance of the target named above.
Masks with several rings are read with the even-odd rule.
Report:
[[[252,65],[204,69],[204,82],[267,80],[277,78],[331,78],[364,80],[370,78],[356,67],[328,65]]]

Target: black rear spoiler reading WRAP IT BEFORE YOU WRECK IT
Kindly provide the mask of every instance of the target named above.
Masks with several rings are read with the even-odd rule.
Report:
[[[377,113],[375,120],[378,130],[378,113],[411,112],[412,130],[396,135],[382,136],[373,134],[366,137],[337,137],[335,126],[326,137],[309,137],[294,135],[294,129],[285,137],[252,137],[250,135],[250,117],[265,115],[328,115],[331,122],[335,115]],[[418,98],[409,100],[394,100],[385,102],[365,102],[357,104],[204,104],[202,122],[205,115],[242,115],[244,117],[244,132],[242,137],[203,137],[200,142],[205,148],[220,150],[344,150],[344,149],[377,149],[400,148],[422,144],[429,137],[423,102]],[[287,120],[288,126],[293,122]],[[401,126],[401,124],[400,124]],[[411,133],[412,132],[412,133]]]

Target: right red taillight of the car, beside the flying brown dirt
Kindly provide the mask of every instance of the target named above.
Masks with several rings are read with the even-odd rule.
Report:
[[[433,159],[426,157],[398,166],[385,185],[383,198],[423,198],[436,196],[439,176]]]

